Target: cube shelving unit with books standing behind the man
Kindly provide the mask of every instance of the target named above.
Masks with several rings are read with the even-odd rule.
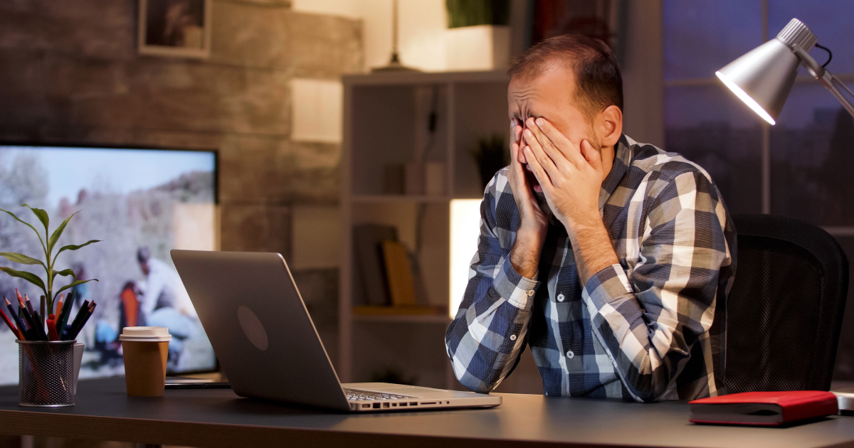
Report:
[[[504,73],[377,73],[345,76],[342,154],[342,264],[339,359],[342,381],[369,381],[397,369],[420,386],[459,388],[444,346],[450,317],[356,316],[365,302],[356,282],[353,226],[394,225],[417,253],[429,305],[450,304],[450,204],[481,199],[483,187],[470,152],[480,139],[509,135]],[[435,131],[430,114],[436,113]],[[442,194],[383,191],[389,164],[442,164]],[[475,247],[477,228],[472,230]],[[472,252],[473,255],[473,252]],[[461,292],[459,294],[462,294]],[[456,310],[453,310],[456,311]]]

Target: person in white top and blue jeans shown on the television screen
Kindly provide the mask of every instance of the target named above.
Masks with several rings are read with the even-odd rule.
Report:
[[[143,297],[139,301],[140,322],[150,327],[166,327],[173,336],[169,342],[170,370],[181,369],[184,340],[196,333],[198,316],[178,272],[159,259],[151,257],[148,247],[137,251],[139,269],[146,281],[137,288]]]

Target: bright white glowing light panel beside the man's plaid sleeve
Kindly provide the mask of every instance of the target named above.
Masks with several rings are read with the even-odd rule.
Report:
[[[451,201],[451,301],[447,312],[452,319],[463,301],[471,258],[477,253],[480,203],[479,199]]]

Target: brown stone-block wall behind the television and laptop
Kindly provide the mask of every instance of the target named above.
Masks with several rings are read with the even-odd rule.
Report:
[[[0,2],[0,141],[219,149],[222,249],[290,257],[292,210],[336,205],[341,148],[290,140],[290,79],[362,70],[361,23],[214,0],[205,60],[137,55],[137,2]],[[337,271],[295,271],[334,356]]]

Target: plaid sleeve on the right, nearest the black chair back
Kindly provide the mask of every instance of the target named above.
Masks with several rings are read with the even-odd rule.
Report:
[[[708,177],[683,172],[658,185],[657,194],[636,204],[648,210],[638,226],[644,236],[627,252],[640,262],[607,266],[582,291],[595,337],[643,402],[673,398],[677,377],[710,380],[706,371],[683,368],[688,358],[711,352],[701,348],[710,344],[721,267],[732,261],[726,212]]]

